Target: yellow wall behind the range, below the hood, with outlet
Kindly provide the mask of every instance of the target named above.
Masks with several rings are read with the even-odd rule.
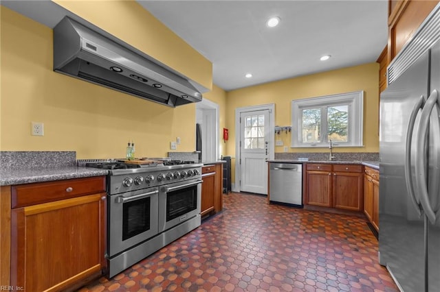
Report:
[[[119,158],[133,140],[136,156],[166,156],[179,136],[177,151],[194,151],[195,104],[168,108],[55,73],[52,58],[52,29],[1,6],[1,150]],[[30,135],[31,121],[44,136]]]

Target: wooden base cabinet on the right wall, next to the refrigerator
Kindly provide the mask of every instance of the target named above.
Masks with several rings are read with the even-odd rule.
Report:
[[[379,171],[371,167],[365,167],[364,213],[379,231]]]

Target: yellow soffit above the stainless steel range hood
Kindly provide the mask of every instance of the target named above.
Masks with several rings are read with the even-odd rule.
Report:
[[[210,90],[211,62],[136,1],[52,1]]]

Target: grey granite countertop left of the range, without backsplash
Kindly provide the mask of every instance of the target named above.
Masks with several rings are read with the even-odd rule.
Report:
[[[52,180],[69,180],[107,175],[104,169],[90,167],[63,167],[52,169],[1,169],[0,186],[12,184],[30,184],[32,182],[49,182]]]

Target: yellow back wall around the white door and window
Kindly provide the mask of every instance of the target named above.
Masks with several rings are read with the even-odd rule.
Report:
[[[307,97],[334,95],[364,90],[364,146],[341,147],[335,152],[378,152],[379,151],[379,64],[370,63],[325,73],[281,80],[241,88],[228,92],[226,106],[227,126],[230,130],[228,155],[235,156],[235,109],[263,104],[275,104],[275,124],[291,125],[291,101]],[[325,152],[324,148],[290,148],[290,133],[275,135],[282,140],[289,152]],[[275,152],[283,152],[277,146]]]

